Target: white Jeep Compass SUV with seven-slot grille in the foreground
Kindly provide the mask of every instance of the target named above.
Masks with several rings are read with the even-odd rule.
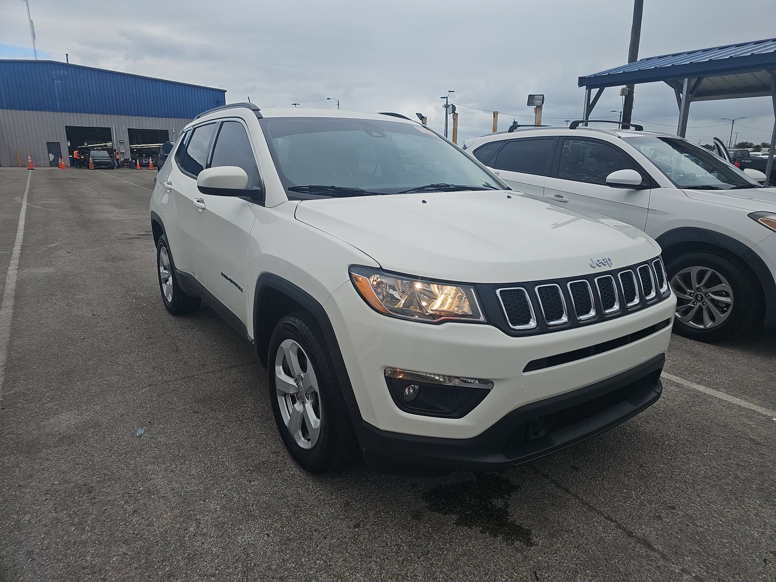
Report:
[[[244,336],[310,471],[504,469],[660,397],[676,300],[655,241],[511,192],[402,116],[203,113],[151,227],[165,307],[204,299]]]

